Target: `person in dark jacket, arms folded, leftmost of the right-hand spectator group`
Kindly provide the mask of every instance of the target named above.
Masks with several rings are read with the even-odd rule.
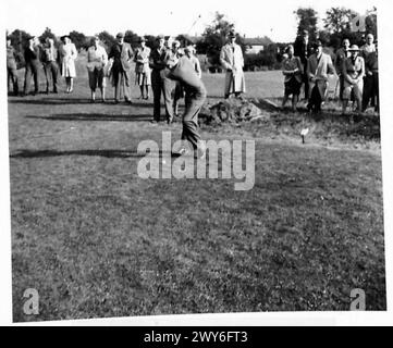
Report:
[[[299,100],[303,65],[300,59],[294,55],[294,47],[290,45],[285,49],[286,58],[283,61],[283,75],[284,79],[284,99],[282,101],[282,108],[285,107],[286,101],[292,95],[292,110],[296,111],[296,105]]]

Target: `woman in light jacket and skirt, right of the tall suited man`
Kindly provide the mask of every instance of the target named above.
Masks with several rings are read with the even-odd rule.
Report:
[[[149,99],[149,86],[151,85],[151,72],[149,67],[150,48],[146,46],[146,39],[144,37],[140,38],[139,45],[140,46],[136,49],[134,58],[136,63],[136,83],[140,88],[139,99]]]

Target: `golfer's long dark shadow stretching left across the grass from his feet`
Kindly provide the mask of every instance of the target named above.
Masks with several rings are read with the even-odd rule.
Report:
[[[147,152],[149,153],[149,152]],[[116,150],[116,149],[87,149],[87,150],[20,150],[11,153],[11,159],[30,159],[30,158],[46,158],[46,157],[62,157],[62,156],[90,156],[90,157],[106,157],[106,158],[143,158],[147,153],[136,152],[135,150]],[[159,151],[159,158],[162,158],[167,152]],[[150,154],[151,156],[151,154]],[[153,157],[153,156],[152,156]],[[177,153],[171,153],[172,158],[179,157]]]

